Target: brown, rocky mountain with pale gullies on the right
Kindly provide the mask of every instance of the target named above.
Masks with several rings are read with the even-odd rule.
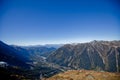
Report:
[[[120,71],[120,41],[92,41],[66,44],[47,61],[73,69]]]

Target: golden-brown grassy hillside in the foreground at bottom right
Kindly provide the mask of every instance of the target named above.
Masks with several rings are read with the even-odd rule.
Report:
[[[120,80],[120,73],[69,70],[43,80]]]

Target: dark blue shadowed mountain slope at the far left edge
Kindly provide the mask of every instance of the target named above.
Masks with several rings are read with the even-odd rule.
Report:
[[[5,61],[10,65],[27,67],[26,62],[29,62],[21,53],[13,47],[0,41],[0,61]]]

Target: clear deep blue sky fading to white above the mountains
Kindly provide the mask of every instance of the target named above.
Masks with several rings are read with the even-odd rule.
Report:
[[[0,40],[36,45],[120,40],[119,0],[0,0]]]

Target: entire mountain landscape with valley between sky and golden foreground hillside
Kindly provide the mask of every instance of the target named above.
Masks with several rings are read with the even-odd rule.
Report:
[[[51,77],[67,70],[83,69],[120,72],[120,41],[94,40],[57,48],[7,45],[0,41],[0,61],[11,65],[10,68],[0,68],[0,74],[8,78],[19,75],[24,79],[35,80],[39,79],[40,73],[43,77]]]

